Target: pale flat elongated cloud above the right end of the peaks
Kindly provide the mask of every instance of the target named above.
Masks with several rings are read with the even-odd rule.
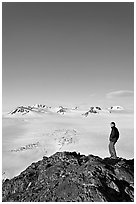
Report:
[[[134,95],[133,91],[130,90],[120,90],[120,91],[113,91],[106,94],[106,97],[111,98],[123,98],[123,97],[132,97]]]

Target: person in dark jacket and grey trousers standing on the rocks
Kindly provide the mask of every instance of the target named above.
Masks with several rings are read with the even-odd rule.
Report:
[[[111,126],[111,134],[110,134],[110,143],[109,143],[109,153],[111,155],[110,158],[112,159],[116,159],[117,158],[117,154],[116,154],[116,150],[115,150],[115,144],[119,138],[119,131],[118,129],[115,127],[115,123],[111,122],[110,123]]]

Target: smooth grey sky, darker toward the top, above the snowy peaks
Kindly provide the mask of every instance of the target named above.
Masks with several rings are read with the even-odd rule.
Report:
[[[131,2],[3,2],[2,110],[133,109],[133,18]]]

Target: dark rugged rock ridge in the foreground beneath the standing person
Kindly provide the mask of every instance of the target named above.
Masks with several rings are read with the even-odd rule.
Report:
[[[2,185],[3,202],[134,201],[134,159],[57,152]]]

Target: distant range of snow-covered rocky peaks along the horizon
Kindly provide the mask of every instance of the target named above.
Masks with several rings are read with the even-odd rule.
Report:
[[[93,114],[109,114],[112,112],[123,111],[124,108],[121,106],[112,106],[108,109],[103,109],[100,106],[91,106],[86,110],[80,110],[80,107],[51,107],[43,104],[35,104],[31,106],[18,106],[8,114],[6,117],[41,117],[44,114],[52,113],[52,114],[60,114],[60,115],[80,115],[80,116],[89,116]]]

